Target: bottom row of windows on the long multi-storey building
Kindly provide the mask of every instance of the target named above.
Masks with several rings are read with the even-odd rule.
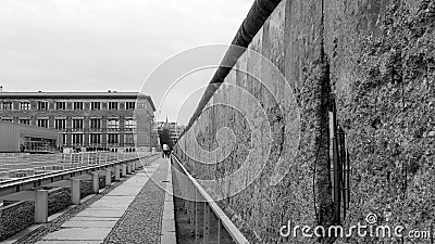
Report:
[[[67,143],[67,134],[64,133],[63,136],[63,144],[69,144]],[[101,144],[102,141],[102,134],[101,133],[90,133],[86,134],[89,137],[89,144],[92,145],[99,145]],[[85,134],[84,133],[73,133],[71,137],[71,143],[73,145],[84,145],[85,144]],[[108,144],[119,144],[120,143],[120,134],[119,133],[108,133],[107,134],[107,143]],[[124,143],[125,144],[134,144],[135,139],[134,134],[126,133],[124,134]]]

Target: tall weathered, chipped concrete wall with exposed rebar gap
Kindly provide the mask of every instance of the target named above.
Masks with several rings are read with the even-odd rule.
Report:
[[[352,167],[344,226],[364,223],[373,213],[378,224],[431,230],[434,22],[435,2],[428,0],[283,1],[249,49],[274,63],[289,88],[275,82],[277,75],[258,57],[244,54],[236,68],[246,67],[263,84],[233,70],[175,154],[198,179],[214,180],[209,191],[224,198],[221,206],[252,243],[377,243],[380,239],[357,234],[338,240],[279,236],[288,220],[311,227],[332,224],[326,107],[333,94]],[[232,89],[232,84],[249,91],[260,106]],[[299,108],[286,97],[286,89],[293,91]],[[300,120],[295,119],[298,110]],[[216,136],[223,127],[233,133],[221,130]],[[253,130],[259,132],[251,137]],[[250,149],[256,149],[251,156]],[[286,174],[275,184],[279,158]],[[250,167],[243,169],[241,177],[215,180],[235,175],[244,164]]]

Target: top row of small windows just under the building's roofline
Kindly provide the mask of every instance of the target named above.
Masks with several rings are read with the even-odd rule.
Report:
[[[110,111],[120,110],[120,102],[108,102],[107,104],[108,104],[107,107]],[[14,110],[12,102],[3,102],[0,105],[1,105],[0,110],[3,110],[3,111]],[[136,102],[126,102],[124,107],[125,107],[125,110],[135,110]],[[55,102],[54,108],[58,111],[67,110],[66,102]],[[102,102],[91,102],[91,103],[89,103],[89,108],[91,111],[102,110]],[[29,110],[32,110],[32,104],[29,102],[20,102],[18,107],[16,110],[29,111]],[[49,110],[48,102],[38,102],[37,110],[38,111],[48,111]],[[85,110],[85,103],[84,102],[73,102],[72,110],[83,111],[83,110]]]

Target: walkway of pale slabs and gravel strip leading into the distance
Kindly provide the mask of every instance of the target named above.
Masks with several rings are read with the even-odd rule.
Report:
[[[154,160],[37,243],[160,243],[170,177],[169,160]]]

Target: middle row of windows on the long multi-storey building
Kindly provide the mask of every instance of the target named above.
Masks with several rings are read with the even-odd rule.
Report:
[[[5,121],[13,121],[13,119],[2,119]],[[18,119],[20,124],[23,125],[30,125],[32,120],[28,118]],[[91,118],[89,119],[89,128],[90,129],[101,129],[101,119],[100,118]],[[49,127],[49,119],[48,118],[39,118],[36,120],[36,126],[48,128]],[[136,129],[137,124],[136,120],[133,118],[125,119],[124,128],[126,129]],[[54,119],[54,128],[58,130],[66,129],[66,119]],[[72,129],[84,129],[84,119],[77,118],[72,120]],[[108,129],[120,129],[120,119],[117,118],[110,118],[107,120],[107,128]]]

